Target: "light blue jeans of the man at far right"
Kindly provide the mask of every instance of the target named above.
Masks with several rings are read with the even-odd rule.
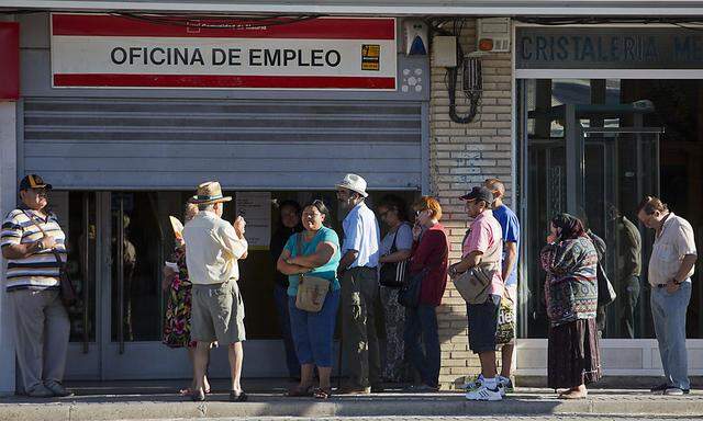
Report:
[[[691,280],[669,294],[667,288],[651,288],[651,317],[659,342],[663,375],[673,387],[690,389],[685,351],[685,310],[691,300]]]

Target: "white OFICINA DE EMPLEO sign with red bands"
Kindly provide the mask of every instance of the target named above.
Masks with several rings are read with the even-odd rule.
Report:
[[[395,48],[392,18],[250,26],[53,13],[52,84],[393,91]]]

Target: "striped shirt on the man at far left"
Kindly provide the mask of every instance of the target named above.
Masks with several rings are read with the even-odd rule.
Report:
[[[56,215],[42,216],[31,209],[14,209],[8,214],[0,231],[0,247],[26,244],[42,239],[43,234],[27,216],[31,215],[47,236],[56,240],[56,251],[66,261],[66,235],[58,225]],[[16,289],[58,288],[59,263],[52,250],[42,250],[24,259],[8,259],[5,287]]]

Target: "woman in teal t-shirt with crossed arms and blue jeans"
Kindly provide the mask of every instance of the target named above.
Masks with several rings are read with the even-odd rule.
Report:
[[[290,236],[278,258],[277,269],[288,275],[288,310],[295,353],[301,365],[300,384],[289,396],[314,396],[326,399],[332,394],[332,341],[339,307],[339,238],[323,224],[330,220],[330,212],[322,201],[313,201],[303,207],[304,231]],[[299,251],[300,250],[300,251]],[[317,312],[301,310],[295,306],[300,274],[330,281],[330,291]],[[320,387],[312,389],[313,369],[317,366]]]

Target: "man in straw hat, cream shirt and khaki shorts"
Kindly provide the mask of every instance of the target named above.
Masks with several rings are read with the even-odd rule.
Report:
[[[244,351],[244,301],[237,281],[237,260],[246,259],[247,242],[244,238],[244,218],[238,216],[234,225],[222,219],[224,203],[232,197],[222,195],[216,181],[198,186],[198,193],[189,202],[200,210],[183,228],[186,264],[192,287],[191,338],[196,346],[196,388],[192,399],[205,400],[204,376],[210,344],[214,341],[228,344],[232,387],[230,400],[245,401],[242,390],[242,362]]]

